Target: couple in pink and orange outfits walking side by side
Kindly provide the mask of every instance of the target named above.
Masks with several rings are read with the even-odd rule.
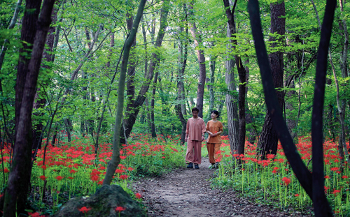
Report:
[[[208,133],[207,138],[207,149],[209,155],[209,162],[211,166],[209,168],[217,168],[218,163],[216,159],[218,158],[218,151],[221,147],[221,133],[223,133],[223,124],[221,121],[218,121],[219,113],[214,110],[211,112],[211,121],[208,121],[207,126],[204,123],[204,120],[198,117],[197,107],[192,109],[192,115],[187,121],[186,126],[186,136],[185,142],[187,142],[187,151],[186,151],[186,161],[188,161],[188,168],[200,169],[199,164],[202,163],[202,141],[204,141],[204,133]]]

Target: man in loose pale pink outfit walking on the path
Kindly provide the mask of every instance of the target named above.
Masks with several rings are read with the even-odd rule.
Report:
[[[195,169],[200,169],[198,166],[202,163],[202,141],[204,140],[205,133],[205,123],[203,119],[198,117],[197,107],[192,109],[192,115],[187,121],[186,125],[186,136],[185,142],[187,142],[187,151],[186,151],[186,161],[188,161],[188,168],[193,168],[195,164]]]

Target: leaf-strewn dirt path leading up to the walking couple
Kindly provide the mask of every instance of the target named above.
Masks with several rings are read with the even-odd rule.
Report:
[[[200,170],[178,168],[161,177],[139,179],[132,184],[141,193],[148,216],[311,216],[300,211],[283,211],[256,204],[234,190],[212,189],[208,158],[202,158]]]

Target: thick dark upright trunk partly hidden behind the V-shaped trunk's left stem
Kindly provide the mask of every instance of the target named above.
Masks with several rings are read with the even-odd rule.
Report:
[[[271,33],[277,33],[281,36],[284,35],[286,31],[286,9],[284,7],[284,1],[277,1],[276,3],[270,4],[271,8]],[[282,16],[282,17],[281,17]],[[269,41],[274,42],[276,38],[270,37]],[[279,40],[283,43],[283,37]],[[277,42],[272,43],[272,47],[278,46]],[[283,53],[273,52],[269,54],[269,63],[272,70],[272,77],[274,79],[274,87],[283,88]],[[279,99],[279,107],[283,107],[283,92],[276,91],[277,97]],[[272,119],[267,112],[265,117],[264,125],[262,126],[262,131],[260,134],[260,139],[258,142],[258,154],[265,158],[266,154],[276,154],[277,144],[279,137],[274,130],[272,124]]]

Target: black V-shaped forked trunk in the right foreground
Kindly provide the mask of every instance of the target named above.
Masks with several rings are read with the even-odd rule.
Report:
[[[300,155],[297,153],[295,144],[283,121],[283,113],[279,106],[279,100],[273,85],[271,68],[268,63],[268,57],[262,36],[262,28],[259,16],[259,5],[257,0],[248,1],[248,10],[251,20],[251,28],[254,38],[255,50],[258,57],[262,85],[265,93],[267,110],[274,122],[275,130],[281,140],[283,151],[292,167],[295,176],[300,185],[311,197],[314,202],[315,216],[332,216],[332,210],[328,204],[324,193],[323,177],[323,144],[322,144],[322,119],[323,119],[323,100],[325,89],[325,72],[327,69],[327,51],[330,42],[330,33],[334,17],[336,1],[327,1],[325,6],[325,17],[321,29],[321,40],[319,45],[316,82],[314,95],[314,110],[312,119],[312,175],[302,162]]]

